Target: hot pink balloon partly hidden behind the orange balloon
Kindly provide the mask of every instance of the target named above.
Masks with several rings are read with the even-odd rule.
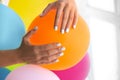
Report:
[[[72,68],[60,71],[53,71],[60,80],[85,80],[89,73],[90,60],[89,55],[86,56],[80,61],[77,65]]]

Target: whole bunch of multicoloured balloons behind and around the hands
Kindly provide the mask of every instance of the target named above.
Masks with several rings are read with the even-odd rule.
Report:
[[[0,50],[18,48],[25,34],[25,28],[29,31],[34,26],[38,26],[37,33],[31,37],[31,44],[61,42],[66,47],[66,51],[64,56],[59,58],[58,63],[42,65],[44,68],[25,65],[25,63],[7,66],[4,69],[8,72],[5,70],[6,73],[3,74],[3,78],[0,77],[0,80],[84,80],[89,71],[89,57],[86,53],[89,45],[89,30],[84,20],[79,16],[75,30],[70,30],[67,34],[60,34],[53,30],[56,10],[51,10],[45,17],[39,17],[38,13],[43,10],[46,4],[40,8],[38,3],[42,0],[30,0],[29,4],[24,1],[10,1],[9,6],[17,13],[0,4],[0,34],[2,34],[0,36]],[[59,27],[60,24],[61,21]],[[44,35],[41,35],[43,33]],[[1,69],[0,72],[4,73]]]

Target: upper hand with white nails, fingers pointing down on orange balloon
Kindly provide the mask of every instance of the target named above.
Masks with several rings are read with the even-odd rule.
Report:
[[[60,32],[64,34],[69,32],[70,27],[76,28],[78,11],[76,7],[75,0],[57,0],[56,2],[48,4],[44,9],[41,16],[45,16],[51,9],[57,8],[57,13],[55,17],[54,29],[58,30],[59,19],[63,13],[62,24]]]

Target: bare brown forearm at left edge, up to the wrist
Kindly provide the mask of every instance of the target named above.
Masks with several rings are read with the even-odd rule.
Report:
[[[0,51],[0,67],[20,63],[18,54],[17,49]]]

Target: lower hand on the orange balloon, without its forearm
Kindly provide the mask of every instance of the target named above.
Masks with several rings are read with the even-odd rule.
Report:
[[[51,43],[46,45],[31,45],[29,39],[36,32],[37,28],[29,31],[23,38],[19,51],[19,59],[21,62],[30,64],[49,64],[58,61],[63,55],[64,47],[60,43]]]

